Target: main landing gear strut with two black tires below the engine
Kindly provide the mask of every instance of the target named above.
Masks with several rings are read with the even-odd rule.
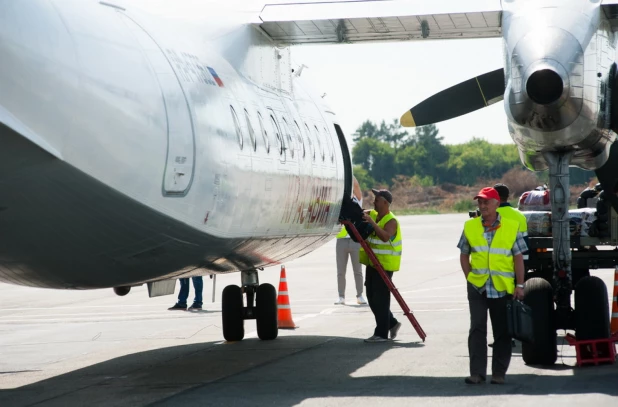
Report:
[[[552,365],[557,357],[556,329],[575,329],[579,340],[607,338],[609,306],[603,281],[585,276],[587,270],[577,270],[576,309],[571,307],[574,287],[569,228],[569,162],[572,153],[547,152],[543,155],[549,165],[553,276],[549,282],[540,278],[526,282],[524,302],[532,307],[535,338],[534,343],[522,346],[522,357],[526,364]]]

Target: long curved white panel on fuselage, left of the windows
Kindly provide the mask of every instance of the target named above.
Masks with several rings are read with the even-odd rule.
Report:
[[[193,121],[184,90],[166,55],[153,38],[130,17],[123,15],[129,30],[141,45],[154,70],[167,113],[167,156],[163,195],[184,196],[189,192],[195,166]]]

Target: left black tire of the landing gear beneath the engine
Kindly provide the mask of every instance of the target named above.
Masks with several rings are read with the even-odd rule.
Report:
[[[542,278],[526,282],[524,303],[532,308],[534,343],[522,342],[521,355],[527,365],[553,365],[558,357],[556,322],[551,284]]]

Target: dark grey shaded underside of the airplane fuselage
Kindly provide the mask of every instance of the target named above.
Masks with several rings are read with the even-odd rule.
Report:
[[[300,257],[331,238],[211,236],[119,193],[2,125],[0,140],[3,282],[96,289],[254,271]],[[268,258],[260,254],[265,247]]]

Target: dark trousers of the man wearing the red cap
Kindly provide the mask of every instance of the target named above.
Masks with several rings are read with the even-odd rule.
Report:
[[[470,374],[487,375],[487,310],[494,333],[494,356],[491,361],[493,375],[504,376],[511,362],[511,337],[506,324],[506,304],[512,295],[502,298],[487,298],[486,293],[468,283],[468,303],[470,305],[470,333],[468,352],[470,353]]]

